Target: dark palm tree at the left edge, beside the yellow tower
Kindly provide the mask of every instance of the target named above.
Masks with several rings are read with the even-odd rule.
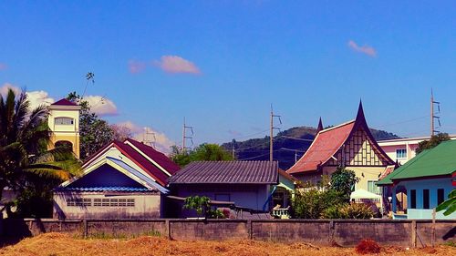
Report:
[[[50,131],[47,108],[29,109],[26,93],[16,95],[12,89],[0,95],[0,200],[5,188],[23,192],[40,183],[69,179],[67,167],[74,158],[54,149],[47,150]]]

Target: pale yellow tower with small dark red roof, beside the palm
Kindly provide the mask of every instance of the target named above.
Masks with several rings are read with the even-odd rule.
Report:
[[[48,149],[71,148],[79,158],[79,110],[78,104],[62,98],[49,106],[47,125],[52,131]]]

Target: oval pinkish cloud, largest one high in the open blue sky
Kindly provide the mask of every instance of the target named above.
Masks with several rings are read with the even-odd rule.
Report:
[[[171,74],[201,74],[200,68],[181,56],[161,56],[160,60],[154,61],[154,65],[160,67],[164,72]]]

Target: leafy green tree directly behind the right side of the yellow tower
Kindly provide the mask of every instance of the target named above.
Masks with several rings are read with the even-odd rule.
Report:
[[[107,121],[98,118],[97,114],[90,111],[88,101],[80,97],[76,92],[68,94],[67,99],[78,103],[79,111],[79,140],[80,159],[89,156],[104,147],[114,138],[114,131]]]

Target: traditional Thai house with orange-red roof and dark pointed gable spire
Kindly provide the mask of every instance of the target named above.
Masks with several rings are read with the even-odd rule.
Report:
[[[394,168],[395,162],[372,137],[362,103],[354,120],[326,129],[322,129],[320,123],[319,127],[304,156],[286,172],[296,179],[316,184],[323,175],[330,176],[337,167],[345,167],[355,171],[359,178],[356,189],[379,194],[378,178]]]

